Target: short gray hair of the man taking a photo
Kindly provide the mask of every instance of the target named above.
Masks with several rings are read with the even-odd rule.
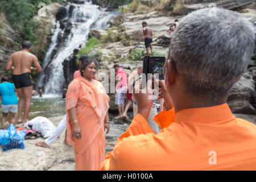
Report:
[[[193,96],[218,100],[245,71],[254,49],[254,28],[233,11],[194,11],[172,35],[170,57],[184,88]]]

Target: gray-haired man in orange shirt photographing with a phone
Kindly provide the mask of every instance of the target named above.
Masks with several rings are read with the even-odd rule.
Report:
[[[166,110],[155,117],[162,130],[147,124],[152,90],[135,92],[138,114],[100,170],[256,170],[256,126],[226,104],[253,54],[254,28],[237,13],[209,10],[187,15],[172,37],[159,82]]]

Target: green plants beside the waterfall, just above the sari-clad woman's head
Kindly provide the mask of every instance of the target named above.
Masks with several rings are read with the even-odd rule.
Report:
[[[77,55],[76,63],[79,63],[79,57],[82,55],[88,55],[92,57],[95,61],[97,61],[97,63],[99,63],[101,61],[102,53],[96,48],[98,44],[100,44],[100,40],[94,37],[90,38],[86,42],[86,47],[80,49]]]

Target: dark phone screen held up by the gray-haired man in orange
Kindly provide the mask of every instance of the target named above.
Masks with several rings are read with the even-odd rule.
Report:
[[[164,63],[166,58],[163,56],[150,56],[149,73],[159,74],[159,80],[164,80]]]

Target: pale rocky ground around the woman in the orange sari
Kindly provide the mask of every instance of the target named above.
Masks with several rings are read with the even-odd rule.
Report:
[[[63,115],[59,117],[51,117],[50,121],[55,126]],[[113,122],[110,115],[110,131],[106,135],[106,153],[113,150],[117,138],[129,126],[128,123],[122,121]],[[43,141],[43,138],[34,140],[23,140],[25,149],[14,148],[2,151],[0,147],[0,171],[73,171],[75,170],[75,156],[73,147],[63,144],[65,132],[52,143],[49,148],[38,147],[36,142]]]

